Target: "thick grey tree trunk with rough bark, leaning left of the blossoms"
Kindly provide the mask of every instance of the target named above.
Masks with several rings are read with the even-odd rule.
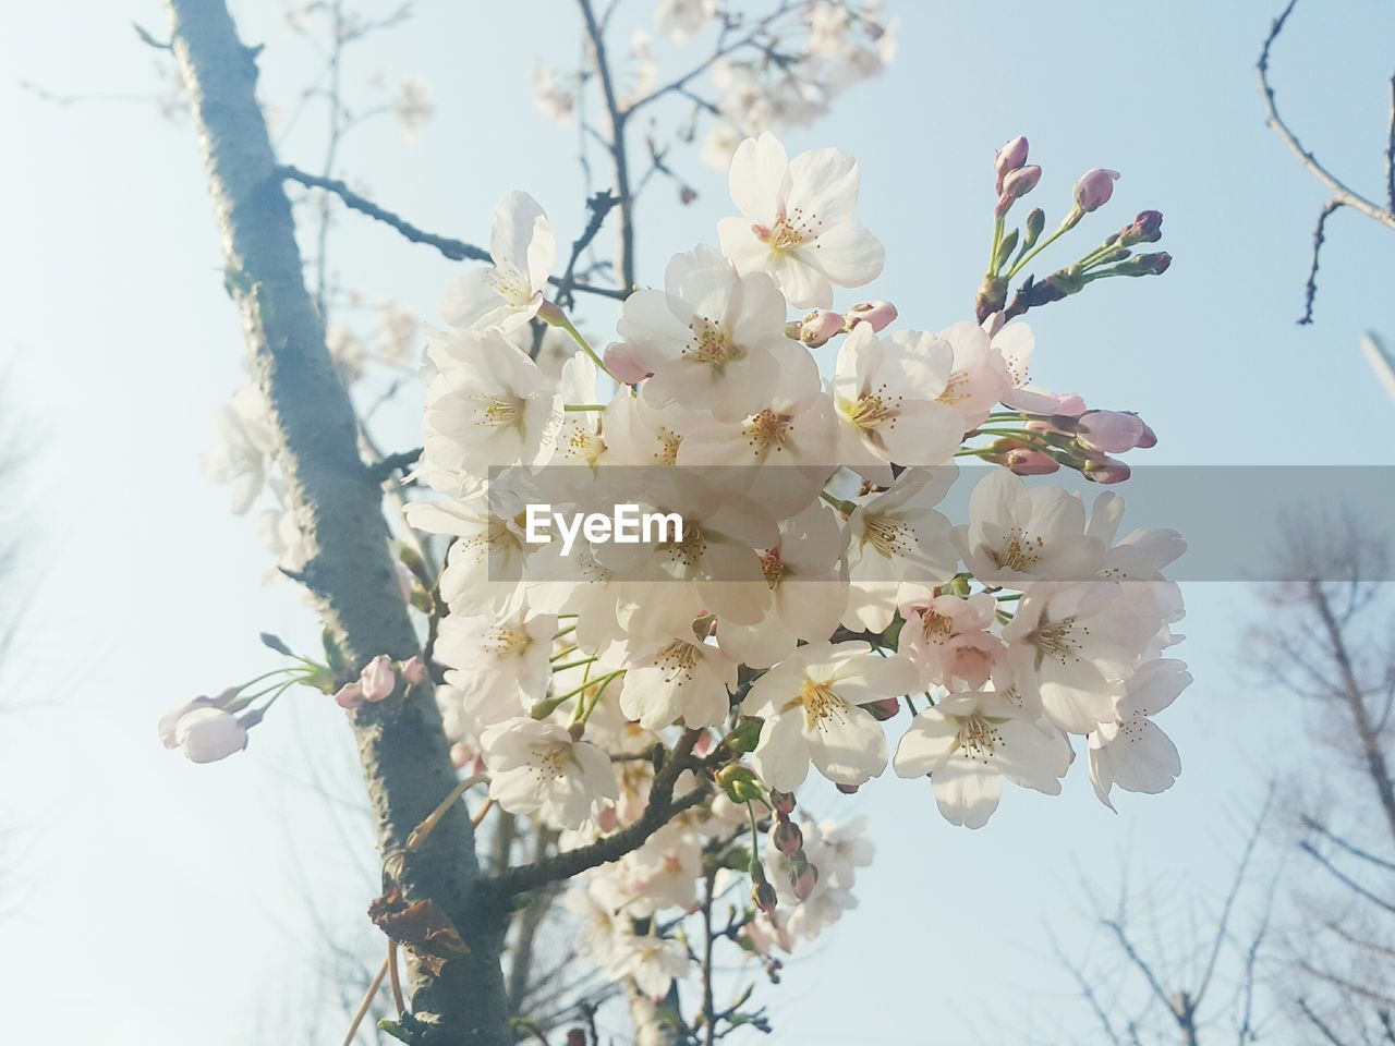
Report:
[[[382,491],[359,457],[353,407],[306,291],[290,204],[257,103],[255,50],[239,40],[223,0],[167,6],[222,236],[225,282],[241,312],[310,552],[303,580],[354,668],[379,653],[410,657],[418,642],[398,590]],[[413,1042],[511,1043],[499,968],[508,907],[480,879],[465,803],[453,806],[418,852],[405,848],[412,828],[455,785],[430,686],[364,706],[352,718],[385,867],[407,898],[438,905],[470,950],[448,960],[437,976],[412,964],[410,1025],[420,1032]]]

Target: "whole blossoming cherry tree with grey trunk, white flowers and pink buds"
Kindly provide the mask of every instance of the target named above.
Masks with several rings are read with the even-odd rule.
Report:
[[[760,17],[665,0],[656,28],[702,47],[665,74],[647,32],[618,57],[614,11],[578,0],[583,64],[534,75],[540,106],[580,128],[591,177],[590,151],[604,156],[605,187],[587,187],[569,237],[561,212],[508,194],[485,250],[338,176],[338,142],[377,112],[343,105],[343,49],[402,13],[304,8],[331,35],[329,156],[311,173],[276,155],[257,49],[222,0],[169,0],[252,375],[204,467],[234,512],[275,502],[262,538],[324,643],[266,633],[276,667],[174,707],[159,734],[212,761],[287,693],[343,708],[382,867],[364,900],[386,937],[346,1040],[384,985],[396,1014],[379,1029],[423,1046],[559,1031],[594,1045],[615,993],[638,1042],[766,1031],[752,975],[778,979],[781,954],[855,907],[872,859],[865,826],[815,813],[806,782],[928,775],[926,803],[978,828],[1003,781],[1057,792],[1077,745],[1106,805],[1180,771],[1152,718],[1190,682],[1162,655],[1182,538],[1120,536],[1112,491],[1087,505],[1023,478],[1116,484],[1122,456],[1156,442],[1133,413],[1034,384],[1020,318],[1165,272],[1169,255],[1137,252],[1162,215],[1036,280],[1120,176],[1088,170],[1046,236],[1039,208],[1013,226],[1041,179],[1016,138],[985,165],[974,318],[921,331],[886,301],[836,311],[883,269],[857,218],[861,169],[836,148],[791,156],[777,132],[890,60],[891,25],[852,0]],[[379,109],[414,131],[430,93],[413,79]],[[678,158],[699,124],[731,202],[713,208],[716,244],[672,244],[646,282],[639,202],[670,180],[693,204]],[[638,137],[647,166],[632,166]],[[287,184],[312,194],[308,220]],[[384,308],[367,351],[329,319],[340,206],[470,262],[425,328],[417,449],[379,448],[353,395],[374,367],[410,370],[416,321]],[[610,325],[608,343],[583,333]],[[983,469],[956,524],[939,506],[970,481],[960,464]],[[562,510],[551,540],[529,522],[543,502]],[[625,506],[677,524],[635,541],[593,527],[604,508],[618,531]],[[544,957],[550,926],[566,947]],[[746,971],[732,985],[717,976],[730,964]]]

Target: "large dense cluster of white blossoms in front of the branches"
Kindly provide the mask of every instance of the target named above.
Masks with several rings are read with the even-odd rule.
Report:
[[[703,879],[749,880],[732,933],[762,954],[854,904],[870,849],[857,826],[794,819],[810,773],[844,792],[889,767],[929,777],[940,813],[979,827],[1004,780],[1059,792],[1073,738],[1105,803],[1180,770],[1151,715],[1190,682],[1162,657],[1182,540],[1120,536],[1110,491],[1087,506],[1023,478],[1115,483],[1115,455],[1155,435],[1032,385],[1031,331],[1002,311],[937,332],[898,328],[884,301],[834,312],[836,289],[883,264],[858,183],[836,149],[746,139],[720,248],[675,255],[600,351],[548,300],[554,233],[513,192],[494,264],[428,331],[417,474],[444,498],[407,516],[451,540],[432,657],[458,764],[576,847],[643,816],[679,731],[693,753],[674,795],[696,802],[568,901],[587,953],[654,994],[688,961],[636,920],[691,912]],[[576,343],[559,374],[512,338],[530,321]],[[961,459],[990,467],[956,526],[937,506]],[[632,545],[586,533],[564,555],[526,533],[540,477],[554,508],[622,497],[681,526]]]

